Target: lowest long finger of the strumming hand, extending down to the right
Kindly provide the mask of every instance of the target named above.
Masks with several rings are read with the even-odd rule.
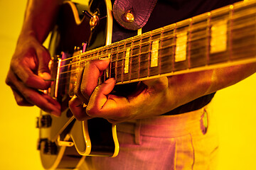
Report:
[[[6,84],[11,86],[12,89],[15,89],[17,103],[30,103],[31,105],[36,105],[41,108],[43,111],[52,113],[53,115],[60,115],[60,104],[58,101],[55,101],[50,96],[43,94],[41,91],[28,88],[21,81],[19,81],[14,73],[9,71],[8,77],[6,78]],[[17,92],[18,91],[18,92]],[[23,101],[21,100],[23,98]]]

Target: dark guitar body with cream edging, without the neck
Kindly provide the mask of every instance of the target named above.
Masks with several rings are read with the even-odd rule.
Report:
[[[60,102],[62,114],[56,118],[41,111],[38,118],[39,140],[38,149],[41,162],[45,169],[75,169],[82,164],[86,155],[115,157],[119,151],[115,125],[107,120],[95,118],[78,121],[68,108],[68,101],[74,95],[76,77],[70,77],[68,58],[79,55],[82,43],[87,49],[110,44],[112,36],[112,4],[110,0],[93,1],[90,8],[65,1],[60,9],[58,23],[52,33],[49,51],[55,56],[51,64],[53,81],[47,91],[50,96]],[[82,11],[95,14],[99,21],[92,28],[91,17]],[[66,60],[66,61],[65,61]],[[75,62],[75,61],[72,61]],[[62,72],[66,74],[60,75]],[[72,75],[72,73],[71,73]],[[67,82],[70,82],[68,85]]]

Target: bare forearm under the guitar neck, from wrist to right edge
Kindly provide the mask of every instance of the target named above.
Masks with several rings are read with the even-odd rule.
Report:
[[[238,83],[256,72],[256,63],[169,77],[172,110],[194,99]]]

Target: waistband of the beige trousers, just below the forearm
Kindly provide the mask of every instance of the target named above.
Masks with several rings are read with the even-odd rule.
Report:
[[[207,118],[207,106],[179,115],[160,115],[117,124],[117,131],[153,137],[177,137],[191,132],[201,132],[203,119]]]

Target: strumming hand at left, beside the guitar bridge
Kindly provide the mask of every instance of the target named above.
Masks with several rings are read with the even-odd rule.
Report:
[[[60,115],[60,104],[50,96],[38,90],[48,89],[50,71],[48,50],[33,35],[21,35],[16,51],[11,59],[11,66],[6,77],[14,92],[19,106],[38,106],[43,111]]]

